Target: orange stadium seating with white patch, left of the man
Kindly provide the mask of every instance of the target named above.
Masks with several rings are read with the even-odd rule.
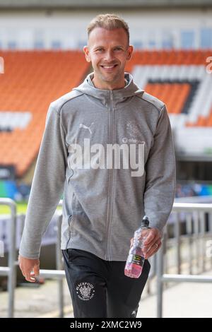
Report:
[[[0,76],[0,160],[21,177],[37,157],[49,103],[81,83],[89,64],[81,51],[4,51]]]

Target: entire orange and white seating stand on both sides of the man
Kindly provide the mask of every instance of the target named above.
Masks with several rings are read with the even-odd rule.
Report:
[[[1,165],[14,165],[20,178],[37,157],[49,103],[81,83],[90,65],[80,50],[1,54],[7,74],[0,76],[0,160]],[[210,54],[210,50],[135,50],[126,66],[141,88],[165,102],[172,129],[181,130],[187,150],[194,143],[190,127],[212,126],[212,77],[206,72]],[[196,149],[206,150],[203,146],[199,142]]]

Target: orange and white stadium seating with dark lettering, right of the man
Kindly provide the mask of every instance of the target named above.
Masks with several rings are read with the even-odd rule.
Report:
[[[167,105],[172,129],[211,126],[212,78],[206,72],[210,50],[134,52],[127,70],[135,81]]]

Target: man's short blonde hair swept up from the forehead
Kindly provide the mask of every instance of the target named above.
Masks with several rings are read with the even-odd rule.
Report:
[[[123,28],[126,32],[128,45],[129,45],[129,26],[125,22],[125,20],[123,20],[123,18],[120,18],[115,14],[100,14],[98,16],[95,16],[95,18],[93,18],[93,20],[90,21],[87,27],[88,38],[90,32],[97,27],[104,28],[106,30]]]

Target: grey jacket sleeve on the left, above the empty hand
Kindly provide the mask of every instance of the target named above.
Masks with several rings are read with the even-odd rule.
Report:
[[[37,157],[19,254],[40,256],[42,235],[49,225],[64,191],[67,148],[61,117],[50,104]]]

